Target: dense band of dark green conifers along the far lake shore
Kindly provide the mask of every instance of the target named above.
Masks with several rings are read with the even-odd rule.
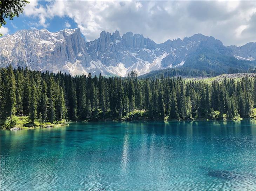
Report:
[[[143,118],[249,118],[256,107],[256,77],[240,81],[184,81],[71,76],[1,68],[1,127],[14,115],[31,122]],[[136,115],[134,115],[134,112]]]

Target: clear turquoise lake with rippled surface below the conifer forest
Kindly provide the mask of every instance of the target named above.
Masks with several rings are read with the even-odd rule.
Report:
[[[256,122],[1,130],[1,190],[256,190]]]

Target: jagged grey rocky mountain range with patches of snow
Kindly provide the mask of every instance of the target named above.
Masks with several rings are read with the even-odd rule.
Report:
[[[230,68],[246,71],[256,66],[256,43],[224,46],[214,37],[195,34],[157,44],[141,34],[102,31],[86,42],[80,29],[58,32],[20,30],[0,39],[1,67],[81,75],[126,76],[167,68],[193,68],[226,73]]]

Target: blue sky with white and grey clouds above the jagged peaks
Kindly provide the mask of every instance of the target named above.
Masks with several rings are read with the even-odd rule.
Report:
[[[80,28],[86,41],[100,32],[132,31],[156,43],[197,33],[224,45],[256,42],[256,1],[30,1],[23,13],[1,28],[55,32]]]

